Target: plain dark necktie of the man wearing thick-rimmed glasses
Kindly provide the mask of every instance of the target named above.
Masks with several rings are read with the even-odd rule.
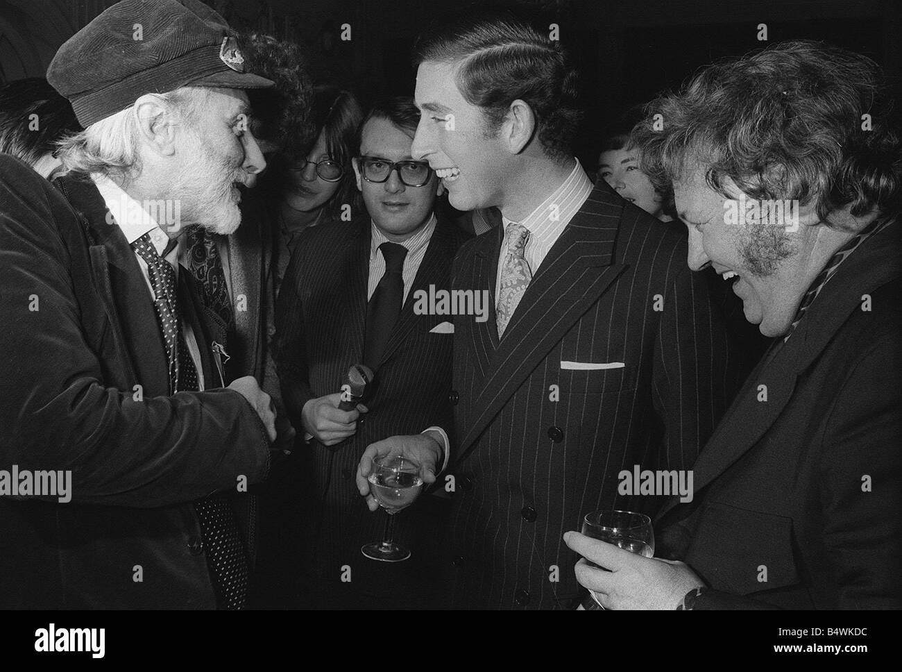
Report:
[[[364,339],[364,364],[375,370],[382,362],[385,345],[388,344],[391,327],[400,315],[404,299],[404,258],[407,248],[394,243],[379,245],[385,260],[385,273],[366,307],[366,337]]]

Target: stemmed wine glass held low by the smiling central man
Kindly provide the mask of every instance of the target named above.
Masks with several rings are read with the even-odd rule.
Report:
[[[364,556],[382,562],[400,562],[410,557],[410,549],[394,543],[394,514],[406,509],[419,497],[423,479],[419,463],[410,457],[390,455],[373,457],[373,472],[366,479],[370,492],[388,514],[382,542],[366,544],[360,549]]]

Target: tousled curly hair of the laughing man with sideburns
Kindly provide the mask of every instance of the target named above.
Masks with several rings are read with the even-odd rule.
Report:
[[[646,113],[632,137],[656,184],[700,161],[724,196],[730,178],[751,198],[813,203],[826,226],[846,206],[902,208],[898,125],[879,66],[861,54],[781,42],[702,69]]]

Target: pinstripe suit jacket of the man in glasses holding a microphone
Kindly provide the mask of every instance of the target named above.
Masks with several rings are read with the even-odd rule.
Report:
[[[299,432],[304,404],[339,391],[348,368],[363,361],[370,233],[368,217],[353,224],[312,227],[301,236],[285,273],[276,310],[276,365],[282,398]],[[466,237],[456,226],[438,221],[376,371],[375,391],[366,400],[369,412],[358,421],[356,434],[331,447],[314,439],[296,451],[308,460],[295,470],[296,483],[288,484],[297,495],[295,515],[304,558],[293,571],[308,577],[308,585],[300,590],[306,587],[312,594],[312,599],[302,597],[301,605],[406,606],[392,603],[392,595],[425,596],[425,584],[437,583],[437,572],[426,561],[436,556],[439,524],[433,514],[443,503],[447,508],[446,500],[424,495],[399,515],[395,537],[412,549],[409,561],[373,562],[361,555],[360,547],[382,539],[385,516],[366,508],[354,474],[369,444],[451,423],[453,336],[429,333],[451,317],[416,315],[413,304],[417,290],[428,291],[429,285],[448,288],[451,261]],[[303,499],[305,493],[309,496]],[[343,566],[351,568],[350,582],[341,581]]]

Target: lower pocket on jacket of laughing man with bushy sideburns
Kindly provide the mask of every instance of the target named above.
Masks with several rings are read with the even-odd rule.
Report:
[[[705,505],[686,562],[728,593],[748,595],[799,583],[792,519],[721,502]]]

